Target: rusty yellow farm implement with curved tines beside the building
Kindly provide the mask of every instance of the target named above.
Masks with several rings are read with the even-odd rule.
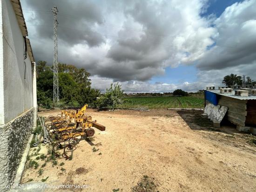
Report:
[[[84,105],[80,110],[61,111],[56,117],[50,115],[44,125],[47,130],[49,141],[53,144],[53,153],[58,155],[60,149],[64,149],[62,156],[68,159],[69,153],[76,149],[76,144],[82,138],[92,137],[95,127],[100,131],[105,131],[105,126],[92,120],[91,116],[85,115],[88,105]]]

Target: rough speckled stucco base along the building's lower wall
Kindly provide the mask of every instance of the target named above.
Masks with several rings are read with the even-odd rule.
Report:
[[[0,191],[12,184],[33,129],[33,108],[0,126]]]

